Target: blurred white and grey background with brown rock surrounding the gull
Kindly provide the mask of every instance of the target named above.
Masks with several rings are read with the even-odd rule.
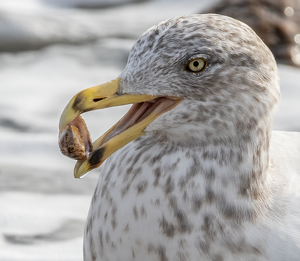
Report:
[[[282,92],[274,129],[300,131],[300,0],[0,0],[0,261],[82,260],[100,171],[73,178],[60,114],[78,91],[116,78],[149,27],[204,12],[243,20],[269,45]],[[127,109],[85,114],[92,138]]]

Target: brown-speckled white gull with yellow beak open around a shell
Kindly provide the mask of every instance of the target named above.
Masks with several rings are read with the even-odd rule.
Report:
[[[60,119],[61,151],[83,148],[76,178],[105,161],[84,260],[299,261],[300,133],[272,131],[279,99],[274,57],[244,23],[201,14],[148,29],[120,76]],[[91,145],[80,115],[124,104]]]

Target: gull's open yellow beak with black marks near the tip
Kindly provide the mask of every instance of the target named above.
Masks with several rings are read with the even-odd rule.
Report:
[[[157,117],[177,106],[178,97],[157,97],[146,94],[118,94],[120,78],[111,82],[85,89],[76,94],[64,109],[59,123],[60,149],[69,157],[79,160],[74,168],[75,178],[99,167],[111,154],[127,143],[145,134],[144,129]],[[106,133],[91,145],[89,133],[80,114],[113,106],[131,104],[130,110]],[[66,133],[78,131],[79,145],[83,147],[84,157],[75,157],[72,150],[79,150],[71,143]],[[76,132],[74,134],[76,136]],[[67,138],[66,138],[67,137]],[[65,142],[61,142],[61,141]],[[71,141],[70,141],[71,140]],[[80,147],[79,146],[79,147]],[[76,151],[75,151],[76,152]]]

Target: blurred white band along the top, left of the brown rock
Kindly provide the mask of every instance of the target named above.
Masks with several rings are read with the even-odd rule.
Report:
[[[76,0],[27,1],[30,4],[24,8],[21,8],[24,1],[0,2],[0,50],[35,49],[53,43],[82,44],[116,36],[136,39],[162,20],[197,12],[216,0],[185,3],[173,0],[172,4],[170,0],[156,0],[96,10],[53,8],[53,5],[45,4],[76,3]]]

